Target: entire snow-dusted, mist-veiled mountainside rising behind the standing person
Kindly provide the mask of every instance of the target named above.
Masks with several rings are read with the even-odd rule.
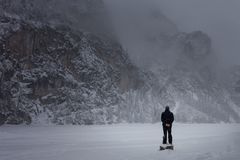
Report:
[[[211,37],[155,1],[0,4],[1,124],[159,122],[166,105],[178,122],[240,121],[238,67],[219,80]]]

